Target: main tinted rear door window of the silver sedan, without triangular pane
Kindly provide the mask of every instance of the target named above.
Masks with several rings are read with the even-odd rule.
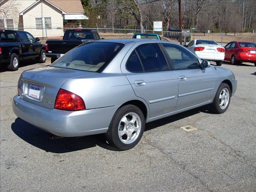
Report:
[[[168,70],[167,62],[156,43],[142,44],[136,48],[145,72]]]

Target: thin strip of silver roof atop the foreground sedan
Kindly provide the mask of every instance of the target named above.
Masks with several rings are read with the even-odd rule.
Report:
[[[96,40],[97,42],[111,42],[111,43],[130,43],[130,42],[144,42],[144,43],[171,43],[171,44],[177,44],[175,42],[170,41],[163,41],[163,40],[156,40],[156,39],[102,39],[102,40]]]

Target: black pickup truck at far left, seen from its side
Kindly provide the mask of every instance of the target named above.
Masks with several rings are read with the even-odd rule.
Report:
[[[18,30],[0,30],[0,65],[8,70],[18,70],[20,60],[38,59],[46,61],[45,45],[29,32]]]

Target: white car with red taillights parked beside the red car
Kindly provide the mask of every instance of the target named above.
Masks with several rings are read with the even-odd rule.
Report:
[[[212,40],[195,39],[185,47],[202,60],[216,62],[217,66],[221,66],[225,57],[225,48]]]

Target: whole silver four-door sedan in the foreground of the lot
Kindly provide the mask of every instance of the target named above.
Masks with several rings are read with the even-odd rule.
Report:
[[[223,113],[235,92],[232,71],[179,44],[99,40],[50,66],[24,71],[13,111],[54,135],[105,133],[108,143],[128,150],[140,141],[146,122],[206,104]]]

